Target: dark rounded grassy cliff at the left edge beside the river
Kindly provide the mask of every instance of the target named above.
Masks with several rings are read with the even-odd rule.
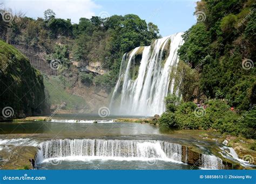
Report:
[[[0,120],[48,114],[43,76],[16,48],[0,40]]]

